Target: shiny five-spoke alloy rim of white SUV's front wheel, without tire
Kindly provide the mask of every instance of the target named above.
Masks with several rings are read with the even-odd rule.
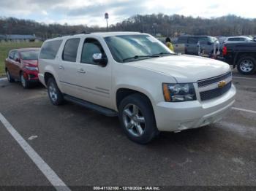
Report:
[[[132,136],[142,136],[146,130],[146,121],[140,108],[135,104],[128,104],[123,110],[125,128]]]

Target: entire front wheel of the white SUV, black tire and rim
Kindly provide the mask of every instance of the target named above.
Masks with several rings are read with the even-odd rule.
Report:
[[[119,104],[118,111],[121,128],[132,141],[147,144],[159,134],[154,111],[145,95],[127,96]]]

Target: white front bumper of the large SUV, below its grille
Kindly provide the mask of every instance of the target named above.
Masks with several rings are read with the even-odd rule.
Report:
[[[234,104],[235,95],[236,87],[232,85],[227,93],[208,101],[160,102],[154,107],[157,128],[160,131],[181,131],[217,122]]]

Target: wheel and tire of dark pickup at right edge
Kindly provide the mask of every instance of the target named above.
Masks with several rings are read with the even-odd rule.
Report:
[[[236,68],[241,74],[254,74],[256,60],[252,56],[244,56],[238,60]]]

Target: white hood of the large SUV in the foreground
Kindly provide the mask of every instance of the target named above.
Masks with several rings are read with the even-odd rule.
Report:
[[[180,83],[197,82],[230,71],[227,63],[192,55],[170,55],[127,64],[170,75]]]

